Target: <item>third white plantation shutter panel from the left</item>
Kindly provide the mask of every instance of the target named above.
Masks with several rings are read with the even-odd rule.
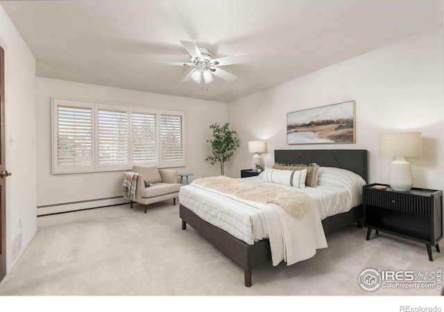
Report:
[[[133,164],[157,164],[157,120],[157,110],[132,107],[131,160]]]

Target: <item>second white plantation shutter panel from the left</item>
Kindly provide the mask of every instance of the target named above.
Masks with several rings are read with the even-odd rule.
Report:
[[[96,111],[98,170],[128,169],[130,167],[128,107],[97,104]]]

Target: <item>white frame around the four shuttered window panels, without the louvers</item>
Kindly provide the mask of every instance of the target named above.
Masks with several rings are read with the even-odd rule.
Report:
[[[92,173],[105,171],[126,171],[133,168],[133,112],[135,114],[156,114],[156,131],[157,131],[157,162],[135,162],[137,166],[156,165],[157,168],[177,168],[186,166],[186,124],[185,112],[182,110],[169,110],[158,107],[148,107],[142,105],[128,105],[116,103],[104,103],[96,101],[76,100],[72,98],[51,97],[52,114],[51,114],[51,142],[52,142],[52,173]],[[58,106],[67,107],[87,107],[92,111],[92,166],[58,166]],[[128,129],[128,162],[127,164],[99,164],[99,110],[115,110],[127,112],[127,129]],[[182,159],[175,159],[171,162],[162,161],[162,140],[161,140],[161,116],[162,114],[171,114],[173,116],[182,116]]]

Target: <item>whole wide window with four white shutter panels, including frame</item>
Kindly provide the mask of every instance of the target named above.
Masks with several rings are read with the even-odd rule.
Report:
[[[185,114],[53,98],[53,173],[185,166]]]

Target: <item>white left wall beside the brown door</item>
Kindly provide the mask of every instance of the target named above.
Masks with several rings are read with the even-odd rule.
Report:
[[[5,50],[6,270],[37,232],[35,162],[35,58],[0,6],[0,46]],[[19,225],[22,219],[22,228]]]

